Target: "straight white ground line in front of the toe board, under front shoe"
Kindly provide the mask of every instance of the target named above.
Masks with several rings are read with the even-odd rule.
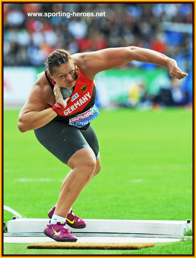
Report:
[[[77,243],[166,243],[180,241],[179,238],[129,238],[129,237],[78,237]],[[4,237],[4,243],[56,242],[48,237]]]

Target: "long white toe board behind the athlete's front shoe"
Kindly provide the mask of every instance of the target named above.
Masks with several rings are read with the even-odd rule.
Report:
[[[8,233],[41,233],[49,219],[20,218],[8,221]],[[191,222],[179,220],[85,219],[86,227],[71,228],[73,233],[128,233],[183,236]]]

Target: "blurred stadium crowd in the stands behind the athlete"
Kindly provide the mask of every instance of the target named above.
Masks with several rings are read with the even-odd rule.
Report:
[[[164,22],[191,24],[190,3],[4,3],[3,6],[5,66],[43,66],[56,48],[74,54],[135,45],[175,58],[183,71],[190,73],[191,36],[160,28]],[[106,16],[27,16],[28,12],[72,11],[106,12]]]

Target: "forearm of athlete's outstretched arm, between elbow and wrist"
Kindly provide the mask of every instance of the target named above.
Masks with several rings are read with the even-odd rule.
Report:
[[[168,62],[171,58],[164,54],[158,53],[157,51],[131,46],[130,48],[130,59],[143,63],[152,63],[160,66],[168,67]]]

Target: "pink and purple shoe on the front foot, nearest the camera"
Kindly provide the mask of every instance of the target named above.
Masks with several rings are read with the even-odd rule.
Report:
[[[57,222],[57,224],[47,224],[44,234],[58,242],[76,242],[78,239],[72,234],[72,231],[66,228],[66,222]]]

